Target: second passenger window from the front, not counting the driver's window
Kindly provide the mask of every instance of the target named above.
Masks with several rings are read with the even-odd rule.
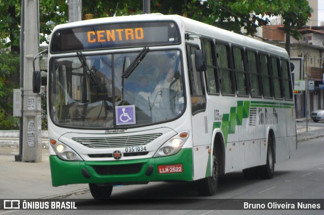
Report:
[[[229,66],[229,47],[217,44],[216,54],[221,92],[222,94],[234,94],[232,71]]]

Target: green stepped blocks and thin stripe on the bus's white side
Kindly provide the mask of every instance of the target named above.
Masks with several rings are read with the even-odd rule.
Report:
[[[230,113],[224,113],[222,121],[217,121],[213,123],[213,131],[216,128],[221,128],[225,147],[227,145],[227,138],[229,134],[235,134],[235,126],[242,125],[244,118],[249,118],[251,107],[268,107],[268,108],[293,108],[293,103],[284,102],[257,102],[257,101],[237,101],[236,107],[230,107]]]

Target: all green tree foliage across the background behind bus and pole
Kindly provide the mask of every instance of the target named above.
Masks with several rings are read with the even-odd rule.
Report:
[[[143,13],[143,0],[83,0],[82,6],[82,15],[91,13],[94,18]],[[281,15],[284,31],[297,39],[300,38],[298,28],[306,24],[312,12],[306,0],[151,0],[150,7],[151,13],[178,14],[237,33],[244,27],[250,35],[256,33],[258,26],[270,22],[267,17]],[[48,42],[47,36],[55,25],[67,20],[68,1],[39,0],[41,44]],[[0,129],[17,125],[17,118],[12,117],[12,97],[13,89],[19,88],[20,21],[21,1],[0,0]],[[10,51],[5,51],[7,48]],[[46,111],[45,102],[43,110]],[[46,113],[42,114],[42,120],[44,127]]]

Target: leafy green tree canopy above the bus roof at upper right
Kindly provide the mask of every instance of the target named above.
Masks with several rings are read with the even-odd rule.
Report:
[[[191,1],[185,10],[188,17],[240,33],[255,35],[258,26],[267,25],[268,17],[281,15],[284,32],[300,39],[299,28],[305,26],[312,9],[306,0],[208,0],[203,6]],[[216,21],[216,22],[215,22]]]

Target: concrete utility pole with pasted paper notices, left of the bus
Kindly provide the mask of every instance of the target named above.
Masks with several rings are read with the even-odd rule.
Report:
[[[33,58],[39,53],[39,2],[24,1],[23,32],[23,89],[22,89],[22,161],[42,161],[41,96],[32,92]],[[35,70],[39,70],[39,60]]]

